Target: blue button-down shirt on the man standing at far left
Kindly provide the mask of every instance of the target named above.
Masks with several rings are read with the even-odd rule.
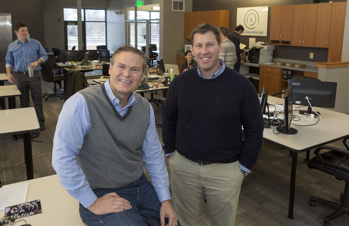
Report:
[[[39,41],[28,37],[24,43],[21,43],[16,39],[7,48],[5,67],[13,68],[15,72],[27,72],[28,66],[38,59],[42,62],[48,59],[48,55]],[[34,71],[39,70],[41,70],[40,64]]]

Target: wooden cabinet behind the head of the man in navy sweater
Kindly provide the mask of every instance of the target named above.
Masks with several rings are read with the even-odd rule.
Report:
[[[185,12],[184,20],[184,39],[190,40],[191,31],[201,23],[229,27],[229,10]]]

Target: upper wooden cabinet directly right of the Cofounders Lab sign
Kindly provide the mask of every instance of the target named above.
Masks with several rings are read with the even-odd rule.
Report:
[[[293,5],[271,7],[270,44],[291,43]]]

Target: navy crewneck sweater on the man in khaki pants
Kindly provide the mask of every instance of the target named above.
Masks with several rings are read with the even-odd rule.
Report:
[[[218,77],[203,79],[195,67],[171,82],[163,108],[166,153],[176,150],[213,163],[239,160],[251,169],[262,147],[263,129],[256,89],[236,71],[226,67]]]

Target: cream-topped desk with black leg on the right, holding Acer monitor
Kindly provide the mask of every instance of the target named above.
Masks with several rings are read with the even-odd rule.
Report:
[[[268,103],[283,103],[283,99],[268,96]],[[294,105],[294,107],[295,106],[296,105]],[[299,109],[306,110],[308,107],[305,106]],[[271,128],[265,128],[263,132],[264,140],[293,152],[288,211],[288,217],[290,219],[294,218],[293,207],[296,186],[297,154],[349,137],[349,115],[318,107],[314,107],[314,109],[321,113],[322,118],[319,123],[307,127],[291,125],[292,128],[298,130],[298,133],[295,135],[274,134],[273,129],[275,127],[273,126]],[[293,111],[293,113],[298,114],[299,112],[297,110]],[[297,121],[295,123],[302,125],[302,121]],[[312,123],[309,123],[309,121],[303,123],[303,125],[309,124]]]

